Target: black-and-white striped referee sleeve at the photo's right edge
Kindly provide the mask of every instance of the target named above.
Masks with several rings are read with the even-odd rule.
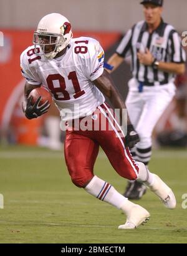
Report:
[[[172,31],[170,35],[171,44],[171,62],[175,63],[185,63],[186,53],[181,44],[181,38],[178,32]]]

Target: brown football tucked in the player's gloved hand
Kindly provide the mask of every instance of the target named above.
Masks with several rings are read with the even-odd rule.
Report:
[[[38,87],[36,89],[33,89],[29,94],[29,97],[30,96],[32,96],[32,101],[31,101],[32,105],[34,104],[34,102],[37,101],[39,96],[42,96],[39,106],[44,104],[46,101],[49,101],[49,104],[52,102],[52,97],[50,96],[50,92],[44,89],[44,87]]]

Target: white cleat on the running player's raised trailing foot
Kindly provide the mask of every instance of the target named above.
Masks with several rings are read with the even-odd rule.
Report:
[[[165,207],[168,209],[175,209],[176,199],[173,191],[160,179],[160,177],[158,177],[158,175],[153,175],[155,175],[155,182],[148,187],[161,199]]]

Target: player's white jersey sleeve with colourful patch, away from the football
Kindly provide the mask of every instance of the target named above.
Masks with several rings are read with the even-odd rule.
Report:
[[[86,56],[85,76],[93,81],[103,73],[104,51],[100,43],[94,39],[89,41],[88,54]]]

